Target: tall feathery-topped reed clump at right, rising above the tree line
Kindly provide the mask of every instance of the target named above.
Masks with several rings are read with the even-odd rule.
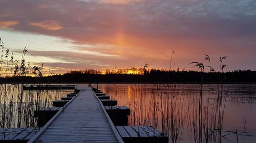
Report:
[[[209,138],[212,134],[216,134],[218,132],[218,142],[222,142],[222,127],[223,127],[223,117],[224,117],[224,110],[225,110],[225,103],[226,98],[223,101],[222,94],[223,94],[223,83],[222,83],[222,73],[223,68],[226,65],[223,65],[223,60],[226,59],[226,56],[220,58],[220,71],[219,71],[219,83],[217,85],[217,97],[216,100],[211,104],[212,108],[209,110],[209,99],[210,99],[210,92],[211,87],[209,87],[208,98],[206,99],[206,105],[204,106],[204,118],[202,118],[202,92],[203,92],[203,74],[204,74],[204,65],[203,63],[199,62],[191,62],[190,64],[195,64],[196,67],[200,68],[201,70],[201,83],[200,83],[200,96],[199,96],[199,109],[198,109],[198,127],[195,125],[195,119],[193,119],[193,128],[194,128],[194,135],[195,135],[195,142],[201,143],[202,136],[204,136],[204,142],[208,142]],[[210,58],[209,55],[206,55],[206,61],[209,61],[210,72],[214,71],[214,68],[210,65]],[[211,78],[211,76],[210,76]],[[209,118],[211,117],[211,118]],[[209,126],[210,125],[210,126]],[[217,125],[217,128],[216,128]],[[203,132],[202,132],[203,130]],[[209,132],[209,130],[211,132]],[[198,131],[198,132],[197,132]]]

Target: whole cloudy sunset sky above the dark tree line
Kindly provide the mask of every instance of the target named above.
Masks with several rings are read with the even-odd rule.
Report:
[[[254,0],[1,0],[0,37],[14,59],[54,73],[141,67],[256,70]],[[207,71],[207,70],[206,70]]]

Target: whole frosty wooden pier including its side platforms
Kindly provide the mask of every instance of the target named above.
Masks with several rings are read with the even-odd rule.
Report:
[[[127,126],[131,110],[115,106],[100,90],[76,87],[53,102],[55,107],[34,111],[38,128],[0,129],[1,142],[168,142],[168,136],[151,126]]]

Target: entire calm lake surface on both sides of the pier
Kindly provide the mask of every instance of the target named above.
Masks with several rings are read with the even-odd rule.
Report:
[[[22,91],[20,84],[4,86],[0,92],[1,128],[36,126],[35,109],[51,107],[52,101],[73,92]],[[155,126],[168,134],[169,142],[188,143],[199,138],[199,84],[98,84],[98,88],[117,99],[118,105],[130,107],[131,126]],[[222,142],[237,142],[236,130],[239,142],[256,142],[255,111],[256,85],[203,85],[203,142],[205,137],[208,142],[218,142],[221,127]]]

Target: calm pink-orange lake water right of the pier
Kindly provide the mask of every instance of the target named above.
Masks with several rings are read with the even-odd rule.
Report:
[[[98,87],[117,99],[118,105],[131,108],[130,125],[156,126],[173,138],[176,135],[177,142],[195,142],[198,138],[199,84],[99,84]],[[236,130],[239,142],[256,142],[255,111],[256,85],[203,85],[202,134],[208,131],[209,142],[218,142],[221,123],[222,142],[237,142]],[[205,142],[204,135],[202,138]]]

